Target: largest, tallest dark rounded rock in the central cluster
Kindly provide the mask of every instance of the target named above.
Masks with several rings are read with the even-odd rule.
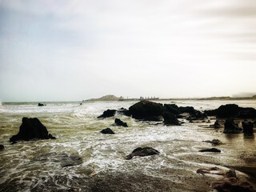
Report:
[[[163,106],[161,103],[141,101],[129,108],[133,118],[145,121],[162,121]]]

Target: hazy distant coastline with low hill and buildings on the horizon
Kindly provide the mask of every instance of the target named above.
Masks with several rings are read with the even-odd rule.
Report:
[[[148,100],[148,101],[154,101],[154,100],[160,100],[160,101],[165,101],[165,100],[202,100],[202,101],[211,101],[211,100],[256,100],[256,95],[252,97],[244,97],[244,98],[232,98],[232,97],[210,97],[210,98],[156,98],[156,97],[140,97],[140,98],[123,98],[121,97],[116,97],[113,94],[108,94],[105,95],[101,98],[90,98],[87,100],[82,100],[82,102],[97,102],[97,101],[118,101],[118,102],[125,102],[125,101],[143,101],[143,100]]]

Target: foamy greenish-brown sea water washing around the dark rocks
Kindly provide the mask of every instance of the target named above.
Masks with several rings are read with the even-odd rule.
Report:
[[[157,101],[196,110],[213,110],[235,103],[256,108],[255,100],[239,101]],[[123,102],[38,102],[2,103],[0,105],[0,191],[210,191],[216,175],[197,174],[199,168],[233,168],[238,175],[256,181],[256,142],[254,134],[223,134],[210,123],[164,126],[142,122],[116,114],[98,119],[104,110],[128,109],[136,101]],[[18,142],[9,139],[18,134],[22,118],[38,118],[55,140]],[[128,127],[114,125],[114,119]],[[241,126],[241,125],[240,125]],[[110,127],[114,135],[101,134]],[[200,153],[212,147],[203,142],[218,138],[222,153]],[[150,146],[160,154],[126,160],[137,147]],[[82,158],[82,163],[62,167],[62,158]],[[66,155],[66,156],[65,156]],[[251,173],[252,172],[252,173]]]

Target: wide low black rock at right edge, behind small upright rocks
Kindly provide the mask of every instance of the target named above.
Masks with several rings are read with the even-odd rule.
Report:
[[[256,118],[256,110],[251,107],[239,107],[236,104],[227,104],[220,106],[216,110],[206,110],[208,116],[216,116],[217,118]]]

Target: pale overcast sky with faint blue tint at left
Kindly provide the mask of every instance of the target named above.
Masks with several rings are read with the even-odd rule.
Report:
[[[255,0],[0,0],[0,101],[256,92]]]

